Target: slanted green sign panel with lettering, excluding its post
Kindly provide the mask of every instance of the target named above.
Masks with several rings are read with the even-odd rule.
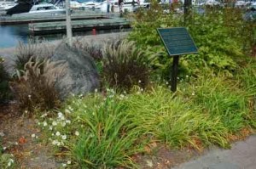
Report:
[[[157,31],[170,56],[197,53],[195,43],[186,28],[158,28]]]

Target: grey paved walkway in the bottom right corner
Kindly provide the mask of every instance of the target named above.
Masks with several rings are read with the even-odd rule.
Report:
[[[232,144],[231,149],[210,149],[174,169],[256,169],[256,135]]]

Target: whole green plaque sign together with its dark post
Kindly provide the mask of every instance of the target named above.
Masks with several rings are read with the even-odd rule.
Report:
[[[179,56],[182,54],[196,54],[197,48],[185,27],[158,28],[157,31],[168,54],[173,56],[171,90],[176,92]]]

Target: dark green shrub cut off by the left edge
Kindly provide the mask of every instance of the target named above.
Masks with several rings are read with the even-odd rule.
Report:
[[[12,93],[9,88],[9,75],[3,66],[3,61],[0,57],[0,104],[11,99]]]

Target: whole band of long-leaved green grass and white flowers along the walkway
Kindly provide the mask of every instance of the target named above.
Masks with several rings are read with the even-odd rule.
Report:
[[[129,94],[106,89],[73,97],[41,124],[72,168],[136,168],[134,155],[151,142],[171,149],[230,148],[232,137],[256,127],[255,98],[247,90],[255,68],[242,70],[252,81],[211,74],[179,82],[177,93],[152,84]]]

